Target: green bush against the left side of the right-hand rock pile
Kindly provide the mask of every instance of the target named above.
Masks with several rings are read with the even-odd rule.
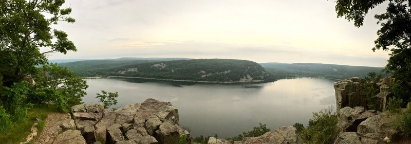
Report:
[[[337,115],[330,107],[313,113],[308,127],[300,135],[305,143],[333,143],[339,132]]]

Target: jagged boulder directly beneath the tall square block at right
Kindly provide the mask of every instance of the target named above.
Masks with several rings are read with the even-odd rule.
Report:
[[[358,125],[370,116],[375,116],[380,112],[367,111],[364,107],[354,108],[344,107],[338,114],[338,124],[341,132],[357,132]]]

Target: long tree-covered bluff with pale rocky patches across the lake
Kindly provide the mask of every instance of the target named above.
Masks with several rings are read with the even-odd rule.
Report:
[[[138,63],[108,69],[110,76],[197,81],[265,80],[270,75],[258,63],[246,60],[195,59]]]

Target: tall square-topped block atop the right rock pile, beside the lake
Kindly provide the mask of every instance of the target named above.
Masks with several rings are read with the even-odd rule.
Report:
[[[335,102],[337,103],[337,113],[342,107],[367,107],[366,93],[363,83],[365,80],[351,78],[334,83]]]

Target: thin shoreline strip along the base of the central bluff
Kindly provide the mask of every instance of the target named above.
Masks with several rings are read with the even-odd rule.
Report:
[[[176,79],[159,79],[159,78],[144,78],[144,77],[124,77],[124,76],[82,77],[82,79],[104,79],[104,78],[134,78],[134,79],[146,79],[146,80],[178,81],[178,82],[199,82],[199,83],[257,83],[257,82],[265,82],[265,81],[266,81],[266,80],[252,80],[252,81],[196,81],[196,80],[176,80]]]

